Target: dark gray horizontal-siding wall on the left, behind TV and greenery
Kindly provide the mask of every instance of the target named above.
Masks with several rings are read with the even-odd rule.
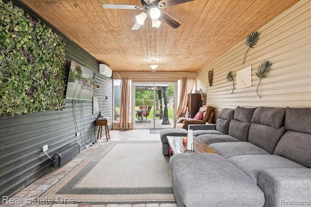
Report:
[[[27,13],[37,18],[28,8],[14,2]],[[48,22],[44,22],[49,25]],[[59,31],[52,29],[62,35]],[[101,89],[94,89],[98,96],[103,116],[112,117],[112,78],[99,74],[99,62],[72,42],[66,39],[66,69],[69,71],[71,59],[96,72],[95,82]],[[108,97],[108,100],[105,97]],[[22,116],[0,117],[0,197],[13,196],[38,178],[52,171],[52,160],[41,152],[48,144],[47,153],[52,156],[69,145],[79,142],[81,150],[95,140],[97,135],[91,101],[65,100],[62,111],[48,111]],[[76,132],[80,136],[76,136]]]

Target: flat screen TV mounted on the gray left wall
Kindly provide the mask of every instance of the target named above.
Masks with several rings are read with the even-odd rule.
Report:
[[[95,72],[71,60],[66,99],[92,101]]]

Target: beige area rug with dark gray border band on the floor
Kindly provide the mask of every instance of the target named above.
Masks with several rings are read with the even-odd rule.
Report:
[[[109,141],[42,198],[75,204],[175,203],[160,141]]]

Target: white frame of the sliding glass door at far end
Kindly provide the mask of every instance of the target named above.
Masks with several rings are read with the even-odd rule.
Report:
[[[159,128],[155,128],[155,87],[156,85],[163,85],[163,84],[172,84],[174,86],[174,91],[173,91],[173,123],[171,123],[170,125],[172,125],[172,127],[169,128],[175,128],[176,125],[176,110],[177,110],[177,99],[175,97],[177,97],[177,82],[170,82],[170,83],[163,83],[163,82],[132,82],[131,88],[132,88],[132,92],[131,92],[131,117],[132,117],[132,123],[133,123],[133,129],[138,129],[136,128],[136,111],[135,111],[135,102],[136,102],[136,85],[150,85],[153,86],[153,106],[151,109],[151,112],[153,113],[153,126],[151,128],[141,128],[141,129],[159,129]],[[150,113],[151,113],[150,112]]]

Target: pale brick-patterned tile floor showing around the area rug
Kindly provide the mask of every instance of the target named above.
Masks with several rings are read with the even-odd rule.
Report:
[[[139,130],[127,130],[127,131],[110,131],[111,140],[160,140],[159,134],[149,134],[149,129]],[[99,150],[106,142],[105,138],[99,140],[94,145],[84,149],[79,155],[72,158],[66,165],[54,169],[52,172],[43,176],[39,180],[35,181],[30,186],[18,192],[12,197],[15,203],[20,204],[9,204],[8,202],[1,205],[1,207],[177,207],[176,204],[107,204],[107,205],[82,205],[82,204],[26,204],[26,198],[36,198],[41,195],[51,186],[56,184],[59,180],[63,179],[68,173],[72,172],[78,167],[86,158],[94,154]]]

